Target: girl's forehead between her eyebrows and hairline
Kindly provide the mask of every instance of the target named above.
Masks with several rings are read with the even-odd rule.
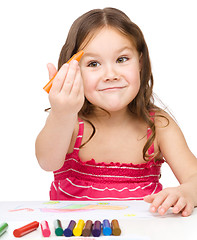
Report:
[[[123,34],[120,30],[115,29],[110,26],[105,26],[88,34],[80,49],[95,48],[95,47],[116,47],[125,45],[136,49],[134,41],[132,41],[131,36]]]

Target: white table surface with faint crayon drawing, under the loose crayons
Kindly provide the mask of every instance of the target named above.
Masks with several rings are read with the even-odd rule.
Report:
[[[107,209],[105,209],[107,208]],[[40,227],[22,240],[63,240],[69,239],[55,236],[53,221],[60,219],[66,228],[71,219],[93,221],[108,218],[118,219],[122,234],[120,237],[101,236],[99,238],[72,237],[70,239],[131,239],[131,240],[196,240],[197,239],[197,208],[189,217],[175,215],[169,211],[166,215],[151,214],[149,204],[143,201],[130,202],[0,202],[0,223],[7,222],[9,228],[0,240],[19,239],[13,236],[13,230],[32,221],[46,220],[51,229],[49,238],[42,237]]]

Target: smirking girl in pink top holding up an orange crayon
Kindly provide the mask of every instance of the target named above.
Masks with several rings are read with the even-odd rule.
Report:
[[[80,63],[65,64],[79,50]],[[71,26],[36,140],[40,166],[54,172],[51,200],[144,199],[163,215],[197,205],[197,160],[175,121],[153,101],[148,48],[139,27],[114,8]],[[164,160],[165,159],[165,160]],[[166,161],[180,185],[162,190]]]

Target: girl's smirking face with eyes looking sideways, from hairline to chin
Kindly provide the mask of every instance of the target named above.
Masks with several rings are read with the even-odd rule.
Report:
[[[140,88],[139,54],[131,40],[104,27],[83,50],[80,68],[88,101],[109,112],[127,108]]]

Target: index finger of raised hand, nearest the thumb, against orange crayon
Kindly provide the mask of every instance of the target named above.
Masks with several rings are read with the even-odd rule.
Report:
[[[49,94],[53,94],[53,93],[59,93],[62,89],[62,86],[64,84],[65,78],[67,76],[68,73],[68,69],[69,69],[69,65],[67,63],[65,63],[64,65],[62,65],[62,67],[60,68],[60,70],[58,71],[57,75],[55,76],[54,80],[53,80],[53,84],[51,87],[51,90],[49,92]]]

